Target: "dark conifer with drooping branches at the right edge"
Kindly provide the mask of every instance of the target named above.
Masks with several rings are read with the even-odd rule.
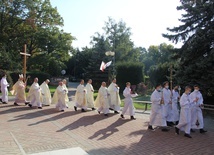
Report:
[[[206,96],[214,95],[214,1],[181,0],[178,10],[184,10],[178,27],[168,28],[164,37],[184,45],[177,50],[180,84],[199,84]]]

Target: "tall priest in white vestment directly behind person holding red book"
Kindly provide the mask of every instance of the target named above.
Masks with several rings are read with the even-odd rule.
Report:
[[[112,83],[108,87],[108,93],[110,94],[110,109],[114,110],[114,113],[119,114],[120,111],[120,95],[119,95],[120,88],[116,84],[116,79],[113,79]]]

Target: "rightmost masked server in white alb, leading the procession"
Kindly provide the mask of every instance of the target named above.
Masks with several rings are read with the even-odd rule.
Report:
[[[193,129],[200,129],[200,133],[207,132],[204,130],[204,120],[203,120],[203,114],[201,107],[203,106],[203,96],[201,92],[199,91],[200,88],[198,85],[194,86],[194,91],[190,94],[190,100],[193,102],[192,106],[192,112],[191,112],[191,132],[194,132]],[[195,98],[198,99],[198,101],[194,101]],[[199,125],[196,125],[196,122],[198,121]]]

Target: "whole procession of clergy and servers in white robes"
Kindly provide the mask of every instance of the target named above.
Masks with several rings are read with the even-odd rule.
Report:
[[[38,81],[37,77],[34,78],[26,97],[27,80],[24,81],[23,74],[20,74],[18,81],[10,91],[15,96],[14,105],[18,106],[24,103],[31,108],[42,109],[42,106],[54,104],[58,111],[64,112],[68,108],[69,102],[67,81],[65,79],[59,81],[53,97],[48,86],[50,80],[46,79],[41,85]],[[5,74],[1,79],[1,102],[3,104],[8,103],[8,87],[9,83]],[[103,113],[104,116],[109,116],[111,110],[115,114],[119,114],[121,110],[119,90],[120,87],[116,84],[115,78],[109,87],[106,86],[106,82],[102,82],[98,90],[98,96],[94,100],[92,79],[87,81],[86,86],[84,86],[84,80],[81,79],[75,93],[74,110],[77,111],[80,108],[81,112],[86,112],[90,108],[91,110],[97,109],[99,115]],[[155,131],[155,129],[160,128],[167,132],[174,127],[177,135],[180,134],[180,131],[184,131],[184,136],[188,138],[192,138],[190,133],[195,132],[196,129],[199,129],[200,133],[207,132],[204,130],[201,110],[203,97],[199,91],[200,87],[195,85],[194,91],[191,92],[191,90],[190,86],[186,86],[183,95],[180,97],[178,85],[170,89],[168,81],[164,82],[163,85],[157,84],[151,94],[152,104],[148,130]],[[125,115],[129,115],[131,120],[135,120],[135,107],[132,98],[138,96],[138,94],[131,89],[130,82],[126,83],[123,96],[124,107],[120,117],[125,119]]]

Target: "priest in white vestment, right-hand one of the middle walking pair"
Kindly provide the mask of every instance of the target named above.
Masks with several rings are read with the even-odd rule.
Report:
[[[87,91],[86,98],[87,98],[87,107],[95,110],[94,108],[94,88],[92,86],[92,80],[89,79],[88,83],[85,86]]]

